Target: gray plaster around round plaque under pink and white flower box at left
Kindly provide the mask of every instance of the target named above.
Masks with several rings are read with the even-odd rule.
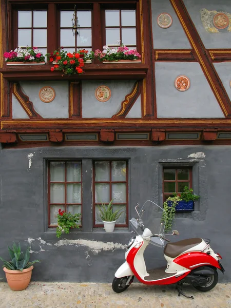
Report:
[[[22,81],[20,85],[23,92],[29,97],[29,100],[33,103],[35,111],[45,119],[57,119],[68,118],[69,108],[69,86],[68,81],[40,81],[40,82],[28,82]],[[50,103],[44,103],[39,98],[40,90],[50,86],[55,91],[55,98]],[[13,114],[21,112],[20,105],[13,105]],[[22,107],[21,107],[22,108]]]

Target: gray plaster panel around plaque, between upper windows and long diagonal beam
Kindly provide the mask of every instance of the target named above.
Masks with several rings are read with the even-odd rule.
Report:
[[[161,13],[168,13],[172,17],[172,25],[167,29],[163,29],[157,24],[157,17]],[[151,0],[151,14],[153,48],[191,48],[188,38],[169,0]]]

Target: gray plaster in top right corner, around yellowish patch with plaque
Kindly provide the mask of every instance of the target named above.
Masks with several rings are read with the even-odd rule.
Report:
[[[205,48],[230,48],[231,32],[226,29],[219,33],[210,33],[205,30],[201,21],[201,9],[231,14],[231,3],[227,0],[183,0],[189,15],[205,45]],[[216,14],[216,12],[214,13]],[[214,27],[211,23],[211,27]]]

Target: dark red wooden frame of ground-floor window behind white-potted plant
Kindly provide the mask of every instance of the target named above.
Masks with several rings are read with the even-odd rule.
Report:
[[[124,161],[126,162],[126,181],[111,181],[111,163],[112,162],[118,162],[118,161]],[[109,162],[109,171],[110,171],[110,181],[95,181],[95,162]],[[96,205],[101,205],[99,202],[95,202],[95,183],[101,183],[101,184],[109,184],[110,185],[110,197],[109,200],[112,200],[112,184],[114,183],[126,183],[126,218],[125,218],[125,224],[120,224],[120,223],[115,223],[115,227],[118,228],[127,228],[128,227],[128,161],[126,159],[102,159],[102,160],[93,160],[92,162],[93,167],[93,179],[92,179],[92,199],[93,199],[93,227],[94,228],[102,228],[104,225],[103,224],[96,224],[95,223],[95,206]],[[108,203],[106,203],[108,204]],[[123,205],[124,203],[113,203],[114,205]]]

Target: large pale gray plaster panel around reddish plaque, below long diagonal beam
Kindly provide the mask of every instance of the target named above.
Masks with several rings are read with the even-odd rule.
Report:
[[[174,85],[181,74],[190,80],[184,92]],[[157,62],[155,77],[158,118],[224,118],[199,63]]]

